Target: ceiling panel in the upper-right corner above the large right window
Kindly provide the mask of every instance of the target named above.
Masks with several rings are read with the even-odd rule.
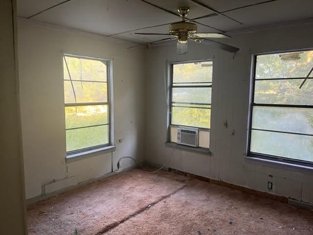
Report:
[[[313,0],[278,0],[225,13],[245,27],[301,20],[313,16]]]

